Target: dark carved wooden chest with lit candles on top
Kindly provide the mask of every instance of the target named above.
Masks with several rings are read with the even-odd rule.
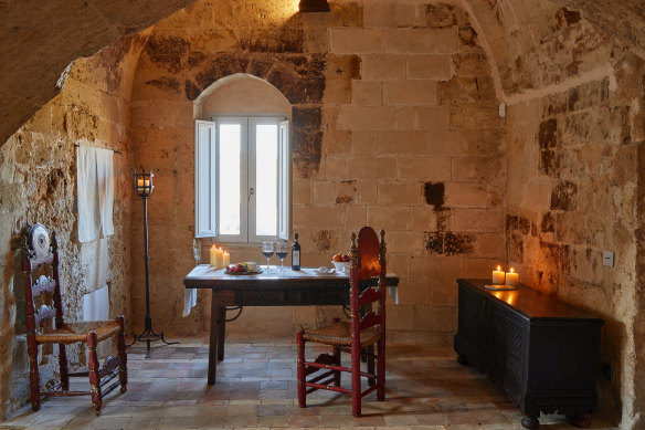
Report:
[[[457,280],[457,360],[504,387],[537,429],[540,412],[584,427],[595,408],[603,319],[526,285],[489,291],[488,280]]]

